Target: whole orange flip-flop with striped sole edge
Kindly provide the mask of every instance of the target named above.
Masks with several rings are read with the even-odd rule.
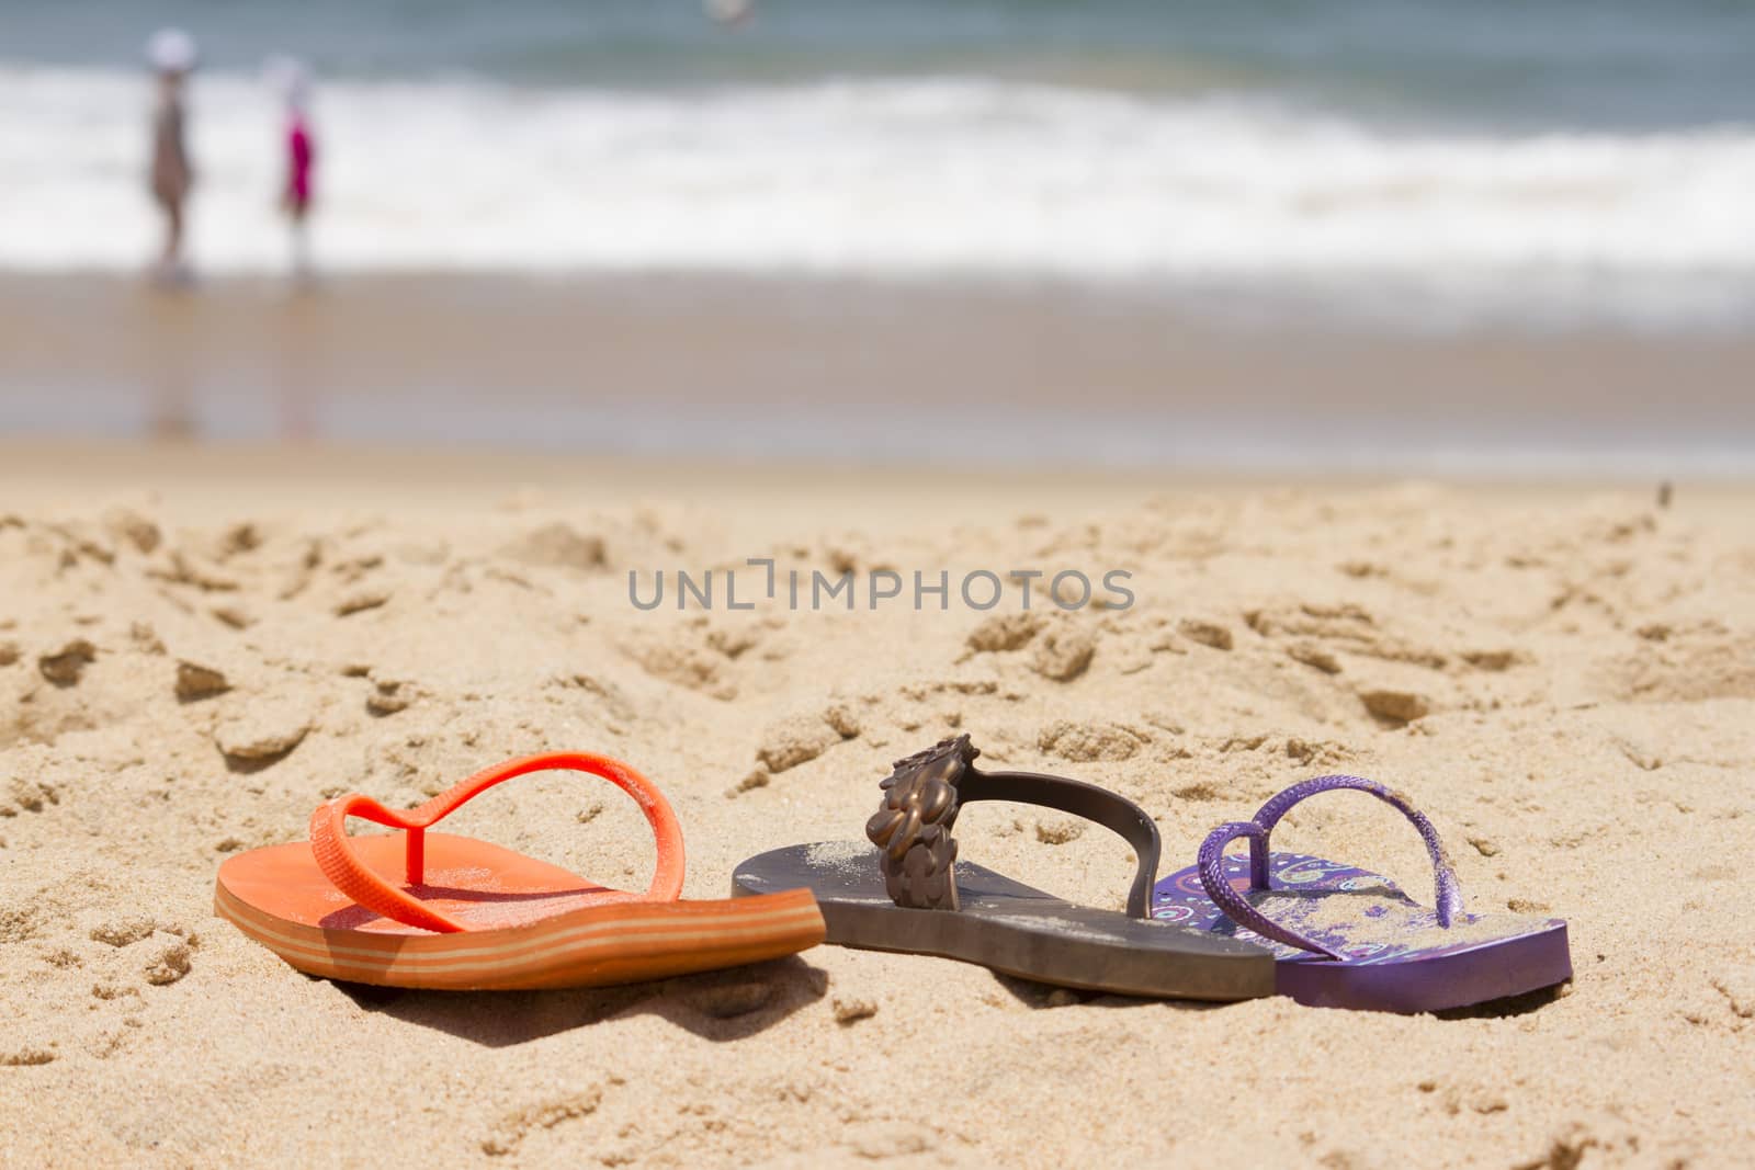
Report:
[[[426,830],[530,772],[590,772],[639,802],[658,838],[646,893],[607,889],[470,837]],[[404,835],[347,837],[356,816]],[[607,756],[553,753],[477,772],[397,812],[351,793],[318,805],[311,840],[219,867],[214,910],[302,972],[393,988],[591,988],[756,963],[823,940],[809,889],[679,902],[683,830],[651,781]]]

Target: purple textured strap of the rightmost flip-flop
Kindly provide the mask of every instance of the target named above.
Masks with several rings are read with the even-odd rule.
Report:
[[[1457,884],[1457,870],[1451,867],[1450,856],[1444,853],[1444,844],[1439,840],[1437,830],[1432,828],[1432,821],[1429,821],[1423,812],[1413,807],[1408,796],[1386,784],[1367,781],[1358,775],[1318,775],[1313,781],[1293,784],[1264,803],[1255,812],[1253,819],[1232,821],[1230,824],[1221,824],[1213,830],[1213,833],[1200,842],[1200,856],[1197,863],[1200,870],[1200,886],[1206,889],[1207,898],[1225,910],[1234,923],[1248,926],[1264,938],[1272,938],[1274,942],[1283,942],[1302,951],[1314,951],[1316,954],[1325,954],[1332,960],[1344,958],[1320,942],[1306,938],[1295,930],[1272,921],[1250,905],[1250,902],[1232,889],[1228,881],[1225,881],[1225,845],[1239,837],[1246,837],[1250,840],[1250,889],[1269,889],[1271,874],[1267,844],[1274,826],[1279,824],[1279,817],[1283,817],[1286,810],[1300,800],[1314,796],[1316,793],[1336,789],[1369,793],[1399,810],[1416,830],[1420,830],[1420,840],[1425,842],[1427,856],[1432,858],[1437,924],[1448,928],[1451,919],[1462,914],[1462,889]]]

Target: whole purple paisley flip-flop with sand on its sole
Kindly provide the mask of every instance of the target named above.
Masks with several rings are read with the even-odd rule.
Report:
[[[1292,805],[1336,789],[1371,793],[1413,821],[1432,856],[1436,909],[1381,874],[1269,853],[1269,833]],[[1225,856],[1237,838],[1250,842],[1248,861]],[[1253,819],[1213,830],[1195,865],[1157,884],[1151,916],[1269,947],[1276,991],[1316,1007],[1434,1012],[1572,977],[1562,919],[1465,912],[1432,823],[1402,793],[1357,775],[1293,784]]]

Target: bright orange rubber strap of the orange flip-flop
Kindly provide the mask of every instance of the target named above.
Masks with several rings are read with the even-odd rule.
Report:
[[[323,875],[333,882],[335,889],[353,898],[358,905],[374,910],[388,919],[407,926],[419,926],[439,933],[469,930],[469,926],[449,914],[437,910],[405,889],[397,889],[374,874],[355,853],[347,838],[347,817],[356,816],[388,828],[407,831],[405,882],[419,886],[425,881],[426,830],[442,821],[463,802],[493,788],[502,781],[530,772],[590,772],[600,775],[641,805],[646,823],[653,828],[658,842],[658,863],[653,867],[653,882],[644,895],[612,891],[605,902],[674,902],[683,893],[683,828],[677,824],[670,802],[663,798],[651,781],[609,756],[590,753],[548,753],[541,756],[523,756],[507,760],[491,768],[484,768],[449,791],[439,793],[426,803],[397,812],[386,809],[370,796],[347,793],[318,805],[311,814],[311,853],[316,854]],[[620,895],[620,896],[616,896]]]

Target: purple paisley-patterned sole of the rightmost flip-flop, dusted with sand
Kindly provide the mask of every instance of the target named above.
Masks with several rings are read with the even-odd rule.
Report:
[[[1230,886],[1251,896],[1248,860],[1227,856],[1223,865]],[[1529,930],[1506,923],[1504,933],[1483,938],[1481,928],[1492,926],[1495,916],[1462,914],[1451,930],[1465,935],[1464,940],[1432,942],[1434,935],[1450,933],[1437,926],[1437,914],[1418,905],[1381,874],[1299,853],[1271,854],[1269,868],[1271,896],[1281,902],[1299,896],[1309,900],[1309,909],[1304,914],[1292,910],[1286,924],[1344,954],[1346,961],[1262,938],[1237,926],[1207,898],[1197,867],[1171,874],[1157,884],[1151,916],[1265,945],[1278,958],[1279,995],[1314,1007],[1434,1012],[1551,988],[1572,977],[1562,919],[1532,923]],[[1372,903],[1362,910],[1364,917],[1372,919],[1369,940],[1348,937],[1344,924],[1325,926],[1313,921],[1325,898],[1362,893],[1374,895]]]

